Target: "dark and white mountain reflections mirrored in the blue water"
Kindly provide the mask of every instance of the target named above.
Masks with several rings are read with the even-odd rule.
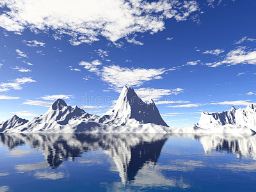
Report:
[[[86,152],[102,150],[115,163],[123,184],[136,179],[144,166],[158,166],[161,150],[168,139],[186,138],[200,141],[205,154],[227,152],[237,157],[256,159],[256,136],[231,134],[0,134],[0,141],[12,152],[21,145],[29,145],[44,153],[46,163],[38,166],[56,169],[63,161],[76,161]],[[170,154],[172,156],[172,153]],[[179,164],[200,161],[172,161]],[[172,164],[172,163],[171,163]],[[24,166],[24,165],[23,165]],[[25,165],[26,166],[26,165]],[[166,170],[177,168],[167,167]],[[23,167],[19,167],[22,170]],[[40,173],[36,173],[40,175]],[[53,175],[54,176],[54,175]],[[179,181],[182,182],[182,181]],[[182,188],[189,185],[182,184]]]

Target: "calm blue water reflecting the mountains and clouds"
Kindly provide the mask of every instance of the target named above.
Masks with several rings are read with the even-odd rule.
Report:
[[[0,134],[0,191],[256,191],[256,136]]]

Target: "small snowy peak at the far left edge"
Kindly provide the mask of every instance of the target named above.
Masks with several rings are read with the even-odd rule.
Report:
[[[3,132],[4,130],[9,130],[15,127],[19,127],[20,125],[24,125],[27,122],[28,120],[24,118],[20,118],[17,115],[13,115],[11,118],[9,118],[8,120],[0,124],[0,132]]]

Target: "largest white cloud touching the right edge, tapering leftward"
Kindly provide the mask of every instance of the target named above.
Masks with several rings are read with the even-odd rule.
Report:
[[[237,65],[237,64],[252,64],[256,65],[256,51],[245,51],[245,47],[237,47],[236,49],[228,52],[225,59],[216,61],[215,63],[207,63],[209,67],[218,67],[223,64]]]

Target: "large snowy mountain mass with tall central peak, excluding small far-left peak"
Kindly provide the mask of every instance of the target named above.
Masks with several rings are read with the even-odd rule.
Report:
[[[41,116],[0,132],[167,132],[168,125],[154,104],[143,102],[132,88],[123,88],[113,110],[97,116],[57,99]]]

